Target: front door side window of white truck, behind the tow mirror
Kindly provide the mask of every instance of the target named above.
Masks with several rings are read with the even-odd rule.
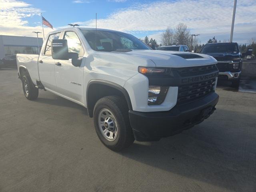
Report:
[[[84,56],[82,43],[75,32],[67,31],[64,35],[64,39],[68,41],[68,52],[76,52],[80,57]]]

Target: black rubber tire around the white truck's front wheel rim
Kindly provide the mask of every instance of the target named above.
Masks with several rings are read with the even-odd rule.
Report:
[[[110,113],[112,113],[110,115],[114,116],[115,122],[117,124],[117,136],[116,139],[112,141],[105,138],[106,136],[104,136],[102,130],[100,130],[101,127],[99,125],[99,121],[103,122],[103,118],[100,118],[100,112],[105,109],[109,110]],[[94,107],[93,116],[94,127],[98,138],[106,147],[110,148],[113,151],[120,151],[123,148],[130,146],[134,142],[134,136],[128,116],[128,106],[126,104],[126,101],[121,97],[106,96],[98,100]],[[102,127],[102,129],[104,129],[104,126]]]

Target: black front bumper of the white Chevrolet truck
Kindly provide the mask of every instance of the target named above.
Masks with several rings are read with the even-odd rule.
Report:
[[[219,96],[215,92],[188,104],[176,105],[166,112],[129,111],[130,124],[137,141],[157,141],[192,128],[215,110]]]

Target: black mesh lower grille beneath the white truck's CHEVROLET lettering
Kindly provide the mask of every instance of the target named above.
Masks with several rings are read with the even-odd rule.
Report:
[[[203,82],[179,86],[177,104],[184,104],[214,92],[215,78]]]

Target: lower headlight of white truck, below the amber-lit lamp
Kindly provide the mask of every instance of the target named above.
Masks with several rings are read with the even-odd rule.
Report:
[[[148,88],[148,105],[160,105],[164,102],[168,92],[166,86],[149,86]]]

